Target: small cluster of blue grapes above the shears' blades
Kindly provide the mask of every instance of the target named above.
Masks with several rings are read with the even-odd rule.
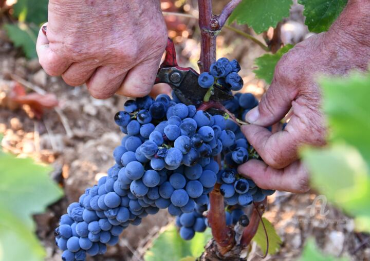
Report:
[[[239,91],[243,88],[243,79],[238,72],[241,70],[239,63],[234,59],[219,58],[210,67],[209,72],[199,75],[198,84],[202,88],[209,89],[214,85],[220,88],[227,88],[232,91]]]

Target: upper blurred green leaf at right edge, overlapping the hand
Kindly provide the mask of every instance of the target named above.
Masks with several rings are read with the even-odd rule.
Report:
[[[320,84],[331,142],[355,146],[370,168],[370,74],[322,79]]]

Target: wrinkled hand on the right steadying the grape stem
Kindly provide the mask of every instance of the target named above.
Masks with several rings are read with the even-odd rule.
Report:
[[[260,105],[246,116],[246,121],[252,124],[242,130],[264,162],[249,160],[238,171],[263,189],[290,192],[309,189],[308,171],[298,159],[297,151],[303,144],[325,144],[316,76],[343,75],[355,68],[366,70],[370,61],[368,34],[366,40],[365,35],[356,38],[346,32],[343,19],[345,15],[353,15],[348,12],[328,32],[306,39],[282,57]],[[340,27],[336,27],[338,24]],[[272,134],[261,127],[279,122],[290,109],[292,116],[284,131]]]

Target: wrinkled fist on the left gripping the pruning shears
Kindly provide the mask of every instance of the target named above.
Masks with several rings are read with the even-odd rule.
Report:
[[[167,43],[158,0],[50,0],[48,19],[36,47],[48,74],[96,98],[150,92]]]

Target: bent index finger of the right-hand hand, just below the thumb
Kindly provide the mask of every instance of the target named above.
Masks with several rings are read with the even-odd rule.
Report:
[[[293,116],[283,131],[271,133],[264,127],[246,125],[242,131],[266,164],[280,169],[298,158],[298,148],[303,144],[323,146],[325,126],[318,108],[306,99],[292,102]]]

